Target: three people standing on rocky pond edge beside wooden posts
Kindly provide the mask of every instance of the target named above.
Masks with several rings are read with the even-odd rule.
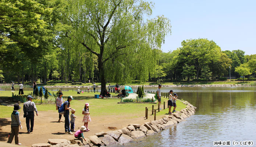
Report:
[[[160,88],[162,87],[162,85],[158,85],[158,89],[156,90],[156,93],[157,93],[157,100],[158,100],[158,105],[160,107],[161,105],[161,90]],[[172,114],[175,111],[175,108],[177,107],[176,105],[176,100],[178,99],[178,94],[174,93],[173,94],[173,90],[170,90],[169,92],[169,100],[168,100],[168,106],[169,106],[169,112],[168,114]],[[173,112],[171,112],[171,107],[173,106]],[[161,110],[161,108],[160,108]]]

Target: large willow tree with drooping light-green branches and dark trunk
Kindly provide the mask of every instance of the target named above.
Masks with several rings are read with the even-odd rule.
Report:
[[[97,56],[101,91],[106,80],[145,81],[153,73],[170,20],[152,14],[152,3],[142,0],[67,0],[67,36]]]

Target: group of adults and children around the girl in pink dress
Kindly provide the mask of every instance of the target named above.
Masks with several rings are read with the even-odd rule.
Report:
[[[65,134],[71,134],[73,135],[72,132],[75,132],[75,137],[79,138],[79,137],[83,137],[83,132],[88,132],[90,131],[90,129],[88,129],[88,122],[91,121],[90,118],[90,112],[89,112],[89,103],[85,103],[85,107],[83,108],[82,114],[83,114],[83,121],[84,124],[81,127],[80,130],[76,131],[75,130],[75,119],[77,118],[77,116],[75,116],[75,109],[71,108],[70,106],[70,101],[74,100],[74,98],[72,96],[68,96],[67,101],[65,101],[63,103],[63,93],[59,92],[58,97],[56,98],[56,110],[59,110],[60,107],[63,105],[64,107],[64,118],[65,118]],[[71,115],[70,115],[70,110],[71,110]],[[69,119],[69,115],[70,115],[70,119]],[[61,120],[61,114],[59,114],[59,119],[58,122],[60,122]],[[71,127],[70,127],[71,124]],[[85,139],[84,139],[85,140]]]

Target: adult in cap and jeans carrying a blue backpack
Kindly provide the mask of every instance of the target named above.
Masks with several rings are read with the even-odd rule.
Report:
[[[70,101],[74,100],[74,98],[72,96],[68,96],[68,100],[65,101],[64,103],[64,108],[65,108],[65,112],[64,112],[64,117],[65,117],[65,134],[71,134],[73,135],[73,133],[70,130],[70,119],[69,119],[69,110],[73,110],[70,107]]]

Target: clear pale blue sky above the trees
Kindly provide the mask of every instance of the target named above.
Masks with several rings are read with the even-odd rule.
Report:
[[[147,0],[154,3],[152,16],[171,21],[171,35],[164,52],[181,47],[182,40],[207,38],[221,50],[256,54],[256,0]]]

